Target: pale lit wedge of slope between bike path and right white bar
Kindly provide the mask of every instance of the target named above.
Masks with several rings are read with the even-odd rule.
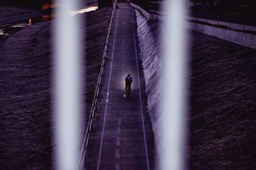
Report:
[[[161,56],[160,56],[160,31],[157,22],[148,22],[146,18],[136,10],[138,25],[138,38],[140,41],[140,57],[143,61],[143,71],[145,75],[146,93],[148,97],[148,111],[157,143],[159,113],[157,107],[160,102],[160,75],[161,75]]]

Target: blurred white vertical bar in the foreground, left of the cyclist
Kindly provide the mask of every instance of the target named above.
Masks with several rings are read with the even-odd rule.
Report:
[[[78,169],[83,64],[78,17],[71,17],[77,1],[56,0],[54,22],[54,144],[55,169]]]

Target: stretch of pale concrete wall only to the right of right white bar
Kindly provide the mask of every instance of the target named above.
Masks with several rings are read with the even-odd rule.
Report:
[[[188,29],[256,49],[256,35],[190,22]]]

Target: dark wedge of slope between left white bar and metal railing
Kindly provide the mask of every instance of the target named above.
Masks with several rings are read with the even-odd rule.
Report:
[[[100,71],[100,64],[104,52],[104,45],[108,33],[111,17],[111,8],[102,8],[84,14],[86,22],[86,34],[84,42],[86,48],[86,115],[88,116],[92,107],[94,90],[97,85],[97,78]]]

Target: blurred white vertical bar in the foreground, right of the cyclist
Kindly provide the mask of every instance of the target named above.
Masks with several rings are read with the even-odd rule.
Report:
[[[163,8],[168,11],[162,34],[164,67],[161,78],[161,138],[157,148],[159,169],[181,170],[186,167],[186,1],[170,0]]]

